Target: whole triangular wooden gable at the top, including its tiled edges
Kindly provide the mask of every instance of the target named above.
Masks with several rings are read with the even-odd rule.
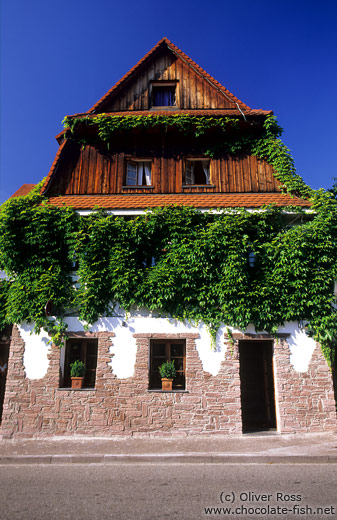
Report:
[[[155,110],[153,90],[170,85],[181,110],[249,109],[167,38],[142,58],[89,112]]]

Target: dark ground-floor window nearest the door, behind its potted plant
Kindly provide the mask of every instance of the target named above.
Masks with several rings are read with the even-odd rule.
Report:
[[[173,389],[185,390],[186,342],[180,339],[153,339],[150,342],[150,389],[161,389],[159,367],[165,361],[174,361],[176,377]]]

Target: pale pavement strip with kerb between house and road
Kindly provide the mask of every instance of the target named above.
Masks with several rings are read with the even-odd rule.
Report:
[[[5,464],[337,464],[337,432],[190,437],[0,438]]]

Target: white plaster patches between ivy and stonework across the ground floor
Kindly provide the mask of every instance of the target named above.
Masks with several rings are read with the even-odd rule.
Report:
[[[84,323],[78,318],[67,318],[68,331],[78,332],[84,330]],[[45,376],[48,370],[48,345],[49,337],[45,332],[31,334],[33,326],[22,324],[20,334],[25,341],[24,366],[26,376],[29,379],[39,379]],[[232,332],[241,332],[233,327],[229,327]],[[174,319],[157,317],[146,309],[134,311],[126,317],[125,313],[119,311],[116,317],[100,318],[89,329],[91,332],[111,331],[115,336],[111,336],[112,346],[110,353],[114,354],[109,365],[111,370],[118,378],[124,379],[134,375],[136,363],[136,340],[135,333],[198,333],[200,337],[196,339],[196,348],[199,353],[202,366],[205,372],[215,376],[218,374],[221,361],[224,359],[227,344],[224,342],[226,326],[220,327],[217,333],[216,345],[212,345],[211,337],[204,324],[198,327],[188,323],[179,322]],[[247,327],[247,333],[255,333],[253,325]],[[296,372],[306,372],[315,349],[315,341],[309,338],[298,323],[291,322],[279,327],[279,332],[288,333],[288,343],[290,346],[290,363]],[[61,368],[64,363],[64,349],[61,351]],[[63,354],[63,355],[62,355]],[[63,361],[62,361],[63,360]]]

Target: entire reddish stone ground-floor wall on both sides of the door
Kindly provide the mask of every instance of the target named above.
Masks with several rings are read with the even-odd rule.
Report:
[[[196,333],[134,334],[137,342],[135,371],[119,379],[109,363],[112,332],[78,332],[72,336],[98,338],[96,386],[93,389],[59,388],[60,350],[53,346],[45,377],[26,378],[24,341],[13,328],[7,386],[0,433],[33,435],[176,435],[240,434],[240,370],[238,341],[252,336],[235,335],[216,376],[203,370]],[[258,339],[258,336],[255,336]],[[265,337],[265,336],[264,336]],[[186,389],[149,390],[150,339],[186,340]],[[336,429],[331,374],[317,347],[307,373],[292,368],[286,339],[275,342],[274,369],[281,433]]]

